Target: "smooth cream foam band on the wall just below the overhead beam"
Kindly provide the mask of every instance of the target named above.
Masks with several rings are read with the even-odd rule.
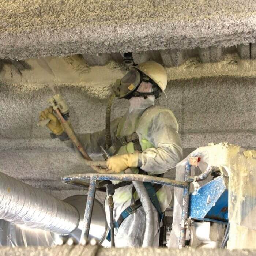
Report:
[[[127,72],[124,65],[115,60],[109,60],[102,66],[92,66],[87,62],[88,59],[82,55],[2,60],[0,81],[34,89],[51,85],[78,86],[95,97],[106,98],[114,81]],[[256,59],[242,59],[237,52],[233,52],[223,54],[215,62],[204,63],[198,57],[190,57],[177,67],[165,69],[168,80],[212,76],[256,77]]]

